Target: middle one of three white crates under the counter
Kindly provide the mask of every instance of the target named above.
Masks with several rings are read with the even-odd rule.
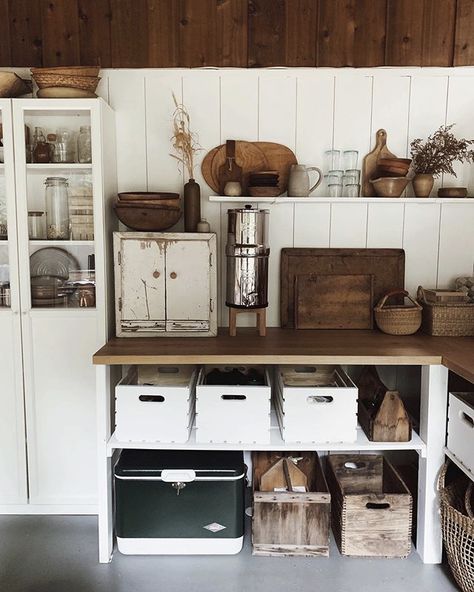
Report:
[[[212,367],[202,368],[196,387],[196,442],[270,443],[271,382],[265,386],[203,384]]]

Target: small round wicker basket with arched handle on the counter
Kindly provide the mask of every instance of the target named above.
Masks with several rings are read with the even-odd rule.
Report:
[[[390,304],[392,296],[406,296],[412,304]],[[412,335],[421,326],[421,306],[405,290],[386,294],[374,308],[377,327],[389,335]]]

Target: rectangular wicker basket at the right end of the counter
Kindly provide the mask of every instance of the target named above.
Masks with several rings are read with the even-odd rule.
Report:
[[[474,303],[432,304],[426,302],[421,286],[418,287],[417,298],[423,305],[424,333],[445,337],[474,335]]]

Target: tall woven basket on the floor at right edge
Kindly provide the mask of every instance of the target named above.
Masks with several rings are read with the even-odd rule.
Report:
[[[474,518],[466,515],[472,514],[472,489],[467,487],[464,476],[445,485],[449,465],[450,461],[444,464],[438,481],[443,543],[454,579],[463,592],[473,592]]]

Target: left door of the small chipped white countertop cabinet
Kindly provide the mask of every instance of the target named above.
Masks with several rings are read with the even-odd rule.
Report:
[[[120,243],[121,331],[164,331],[166,241],[129,238]]]

